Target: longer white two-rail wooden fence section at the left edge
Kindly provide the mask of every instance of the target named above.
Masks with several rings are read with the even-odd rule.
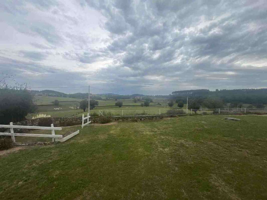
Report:
[[[54,127],[53,124],[51,124],[51,127],[46,127],[46,126],[17,126],[17,125],[13,125],[13,123],[10,122],[10,125],[0,125],[0,127],[1,128],[10,128],[10,133],[0,133],[0,135],[10,135],[13,142],[15,142],[15,136],[46,137],[46,138],[52,138],[52,142],[55,142],[55,138],[63,138],[63,135],[55,135],[55,130],[62,130],[62,128],[61,127]],[[14,133],[13,129],[51,130],[52,134],[49,135],[49,134]]]

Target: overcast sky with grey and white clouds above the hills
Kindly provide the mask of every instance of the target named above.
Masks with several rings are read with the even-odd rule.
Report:
[[[0,72],[30,86],[267,87],[266,0],[2,0],[0,9]]]

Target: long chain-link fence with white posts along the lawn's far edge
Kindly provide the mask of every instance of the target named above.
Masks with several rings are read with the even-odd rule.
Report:
[[[148,115],[167,116],[167,115],[183,115],[183,114],[233,114],[233,113],[249,113],[249,112],[267,113],[267,108],[99,110],[98,116],[148,116]]]

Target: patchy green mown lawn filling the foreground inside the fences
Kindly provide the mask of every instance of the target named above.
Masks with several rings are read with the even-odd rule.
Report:
[[[266,199],[266,116],[90,125],[0,157],[0,199]]]

